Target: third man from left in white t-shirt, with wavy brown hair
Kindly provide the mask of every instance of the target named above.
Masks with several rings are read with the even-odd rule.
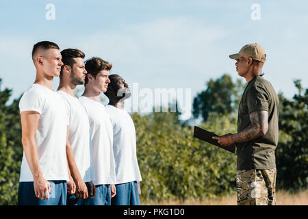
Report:
[[[90,123],[90,144],[94,162],[94,185],[97,195],[85,199],[83,205],[111,205],[116,194],[114,153],[112,150],[112,123],[105,106],[99,102],[101,92],[107,90],[109,72],[112,64],[99,57],[86,61],[86,82],[84,94],[79,101],[86,108]]]

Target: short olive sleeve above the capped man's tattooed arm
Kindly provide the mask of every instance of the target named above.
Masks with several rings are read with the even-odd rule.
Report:
[[[256,110],[268,111],[268,92],[261,87],[255,86],[248,90],[246,100],[248,114]]]

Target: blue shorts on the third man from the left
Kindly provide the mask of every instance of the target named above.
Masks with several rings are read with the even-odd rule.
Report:
[[[78,205],[111,205],[110,184],[95,185],[97,195],[95,198],[78,198]]]

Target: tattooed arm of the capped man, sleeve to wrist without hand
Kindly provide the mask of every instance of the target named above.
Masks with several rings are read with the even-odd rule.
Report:
[[[261,136],[268,131],[268,112],[266,110],[257,110],[249,114],[251,125],[243,131],[232,136],[234,142],[248,142]]]

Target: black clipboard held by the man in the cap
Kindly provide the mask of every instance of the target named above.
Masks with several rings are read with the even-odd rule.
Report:
[[[200,140],[208,142],[209,144],[219,146],[221,149],[227,150],[231,153],[235,153],[235,144],[232,144],[230,146],[221,146],[220,144],[218,144],[218,140],[212,138],[213,136],[217,136],[216,133],[209,132],[197,126],[194,127],[194,138],[198,138]]]

